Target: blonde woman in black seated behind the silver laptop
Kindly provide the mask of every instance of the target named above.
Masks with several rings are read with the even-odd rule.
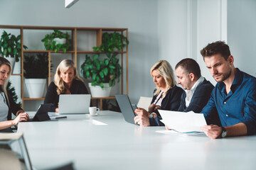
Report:
[[[50,83],[43,102],[52,103],[49,111],[58,112],[60,94],[88,94],[72,60],[63,60],[56,69],[54,80]]]

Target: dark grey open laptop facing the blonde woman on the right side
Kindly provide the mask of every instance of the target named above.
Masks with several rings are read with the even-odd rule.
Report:
[[[134,111],[137,106],[131,104],[129,97],[126,94],[116,94],[114,96],[117,99],[117,103],[121,109],[122,115],[124,116],[124,120],[128,123],[135,124],[134,117],[136,114]]]

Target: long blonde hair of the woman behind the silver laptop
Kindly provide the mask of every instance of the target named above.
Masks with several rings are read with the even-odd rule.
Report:
[[[57,86],[57,93],[64,94],[66,90],[65,82],[60,77],[61,72],[66,72],[70,67],[74,69],[74,79],[82,81],[82,79],[78,76],[78,70],[75,67],[75,64],[72,60],[63,60],[58,64],[54,75],[54,84]]]

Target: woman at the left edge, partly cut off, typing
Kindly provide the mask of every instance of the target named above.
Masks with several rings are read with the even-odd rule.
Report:
[[[10,76],[10,62],[4,57],[0,57],[0,132],[13,132],[11,126],[29,118],[28,114],[14,102],[6,90]],[[11,113],[17,116],[14,120],[11,120]]]

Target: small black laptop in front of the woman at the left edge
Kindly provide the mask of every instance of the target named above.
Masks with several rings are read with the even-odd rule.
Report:
[[[41,104],[36,111],[36,114],[33,118],[29,118],[28,122],[36,122],[36,121],[46,121],[50,120],[50,117],[48,115],[48,110],[50,108],[51,104]]]

